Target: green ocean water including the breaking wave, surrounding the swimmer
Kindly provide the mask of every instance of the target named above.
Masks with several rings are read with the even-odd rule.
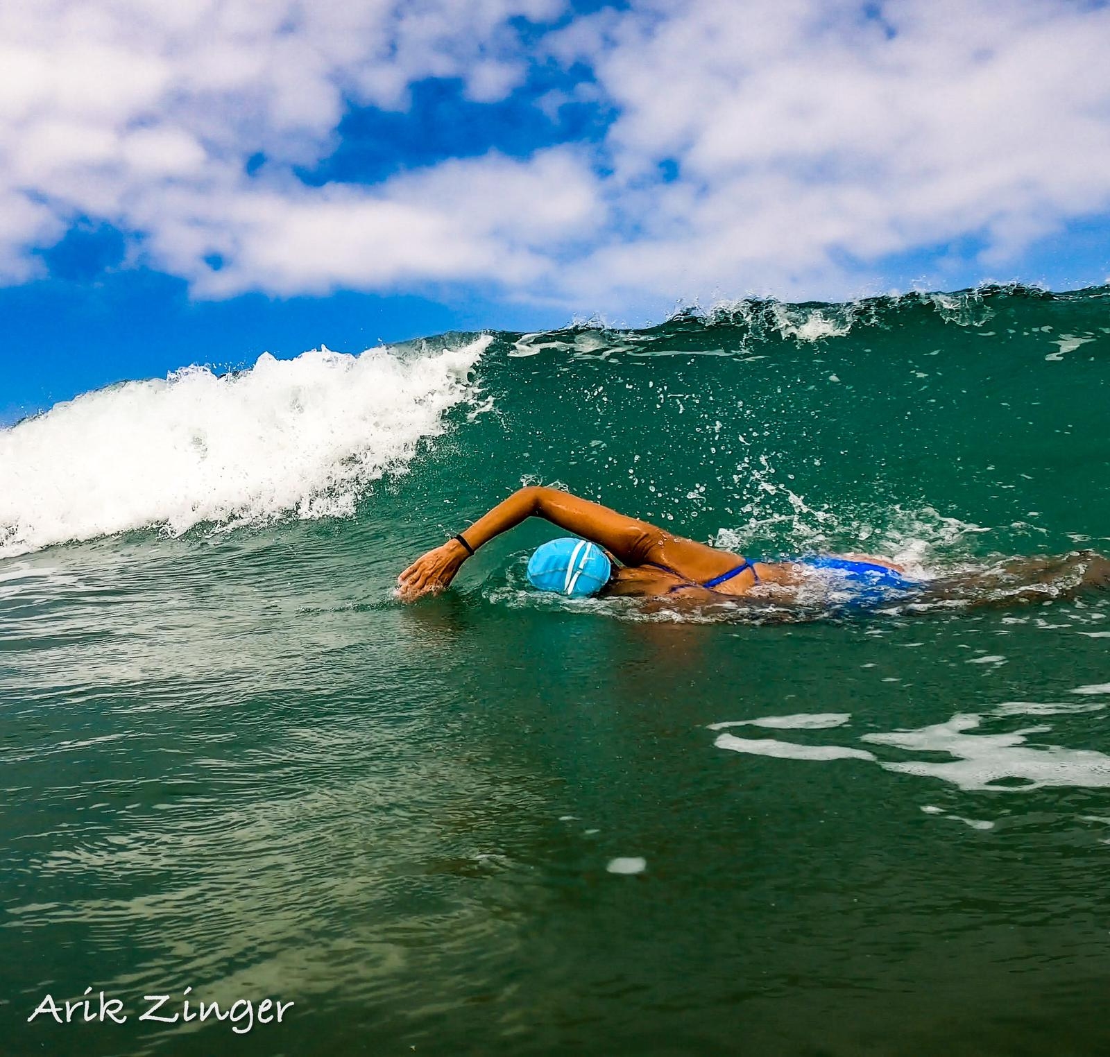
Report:
[[[543,523],[392,588],[522,483],[757,557],[1110,553],[1110,290],[478,339],[0,432],[0,1053],[1106,1051],[1110,594],[571,603]],[[29,1021],[87,988],[127,1023]],[[294,1005],[139,1019],[186,988]]]

